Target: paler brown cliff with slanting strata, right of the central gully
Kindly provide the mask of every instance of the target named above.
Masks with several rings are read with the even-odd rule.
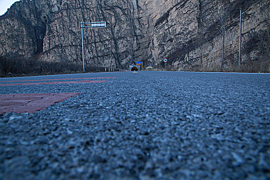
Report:
[[[168,58],[178,69],[197,66],[220,70],[222,35],[219,17],[224,6],[228,6],[224,68],[229,69],[238,62],[239,8],[243,10],[241,63],[256,61],[260,49],[255,34],[266,28],[261,10],[265,4],[266,1],[176,1],[156,20],[151,61]]]

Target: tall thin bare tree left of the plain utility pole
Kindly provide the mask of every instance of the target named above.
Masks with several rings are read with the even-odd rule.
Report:
[[[228,21],[228,16],[229,16],[229,4],[225,2],[225,4],[223,4],[223,6],[220,7],[218,13],[218,30],[222,36],[221,70],[223,69],[223,62],[224,62],[226,25]]]

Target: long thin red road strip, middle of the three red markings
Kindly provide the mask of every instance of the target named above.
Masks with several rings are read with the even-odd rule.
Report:
[[[76,84],[76,83],[102,83],[106,80],[83,80],[83,81],[55,81],[55,82],[23,82],[23,83],[11,83],[0,84],[0,86],[14,86],[14,85],[41,85],[41,84]]]

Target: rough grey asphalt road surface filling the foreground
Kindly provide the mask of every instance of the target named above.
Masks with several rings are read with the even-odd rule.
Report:
[[[0,86],[81,93],[0,115],[0,179],[269,179],[270,75],[142,71]],[[66,80],[67,81],[67,80]]]

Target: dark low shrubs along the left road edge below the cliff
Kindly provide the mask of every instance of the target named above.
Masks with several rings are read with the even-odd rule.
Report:
[[[102,72],[105,67],[85,65],[86,73]],[[116,69],[118,70],[118,69]],[[82,73],[82,64],[67,62],[46,62],[34,58],[0,57],[0,77],[39,76]]]

